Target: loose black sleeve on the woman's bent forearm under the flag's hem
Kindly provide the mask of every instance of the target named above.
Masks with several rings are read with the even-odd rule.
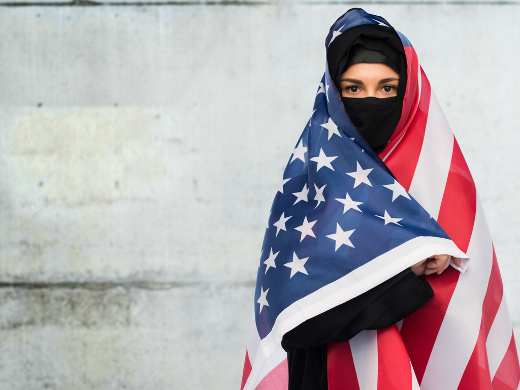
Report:
[[[430,285],[410,268],[284,334],[286,351],[352,339],[362,330],[383,329],[412,314],[433,296]]]

